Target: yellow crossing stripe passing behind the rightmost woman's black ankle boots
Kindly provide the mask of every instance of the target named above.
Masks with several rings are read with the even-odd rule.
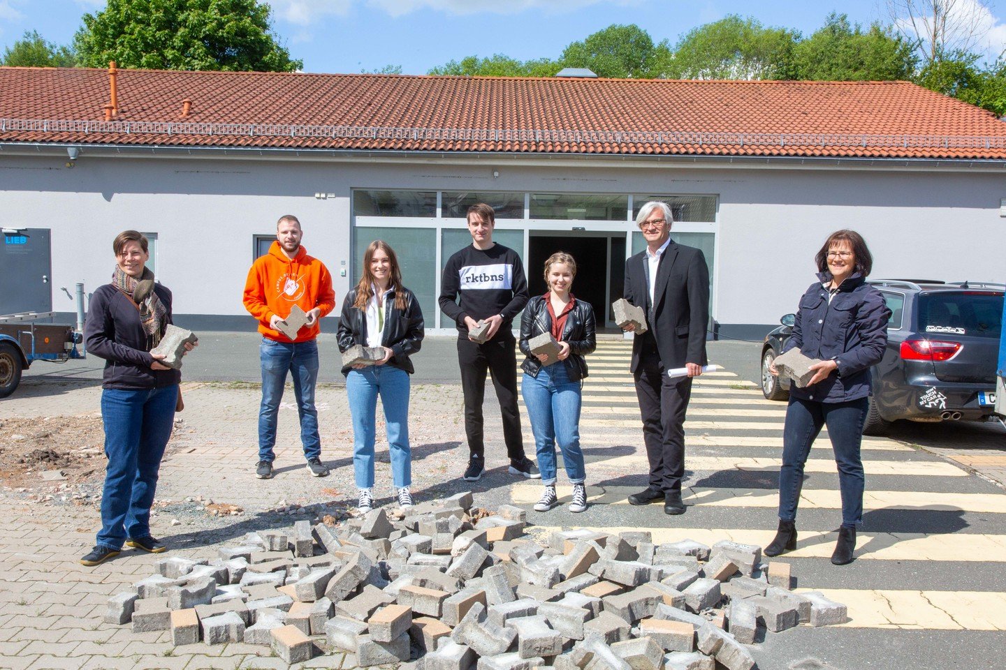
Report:
[[[590,493],[590,486],[588,492]],[[572,489],[559,486],[559,502],[569,501]],[[595,496],[596,497],[596,496]],[[537,498],[535,498],[537,500]],[[591,500],[591,496],[588,496]],[[533,513],[537,517],[537,513]],[[576,526],[580,527],[580,526]],[[642,526],[584,526],[589,530],[617,535],[628,530],[649,530],[654,544],[692,539],[712,546],[728,539],[744,544],[765,546],[776,536],[775,529],[750,528],[694,528]],[[560,530],[559,526],[530,526],[535,532]],[[836,530],[798,530],[797,548],[787,551],[781,559],[829,559],[838,540]],[[905,533],[869,532],[856,533],[857,561],[946,561],[1006,563],[1006,535],[972,533]],[[840,601],[844,603],[845,601]]]

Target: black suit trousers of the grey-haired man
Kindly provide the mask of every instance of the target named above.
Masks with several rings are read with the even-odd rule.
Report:
[[[690,377],[668,378],[656,343],[652,337],[647,340],[640,351],[635,380],[643,415],[643,442],[650,461],[650,486],[680,493],[685,475],[685,411],[692,381]]]

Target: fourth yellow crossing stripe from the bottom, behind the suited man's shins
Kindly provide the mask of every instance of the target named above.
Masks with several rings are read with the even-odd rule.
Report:
[[[701,472],[722,470],[778,471],[781,458],[752,458],[739,456],[686,456],[685,467]],[[645,472],[648,461],[645,455],[630,454],[616,456],[602,461],[593,461],[599,467],[628,468],[634,472]],[[931,477],[967,477],[968,472],[946,461],[884,461],[863,460],[863,468],[868,475],[905,475]],[[833,458],[809,458],[804,466],[807,472],[837,473]]]

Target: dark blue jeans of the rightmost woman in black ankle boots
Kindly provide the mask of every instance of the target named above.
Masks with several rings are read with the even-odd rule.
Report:
[[[831,448],[838,465],[838,487],[842,494],[842,525],[854,528],[863,521],[863,462],[859,445],[868,398],[846,403],[819,403],[790,398],[783,429],[783,467],[779,470],[779,518],[795,521],[800,491],[804,485],[804,464],[814,439],[828,426]]]

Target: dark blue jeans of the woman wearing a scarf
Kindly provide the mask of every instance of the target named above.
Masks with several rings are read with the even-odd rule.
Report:
[[[160,389],[105,389],[105,488],[98,544],[121,549],[127,537],[150,535],[161,457],[171,437],[178,385]]]

